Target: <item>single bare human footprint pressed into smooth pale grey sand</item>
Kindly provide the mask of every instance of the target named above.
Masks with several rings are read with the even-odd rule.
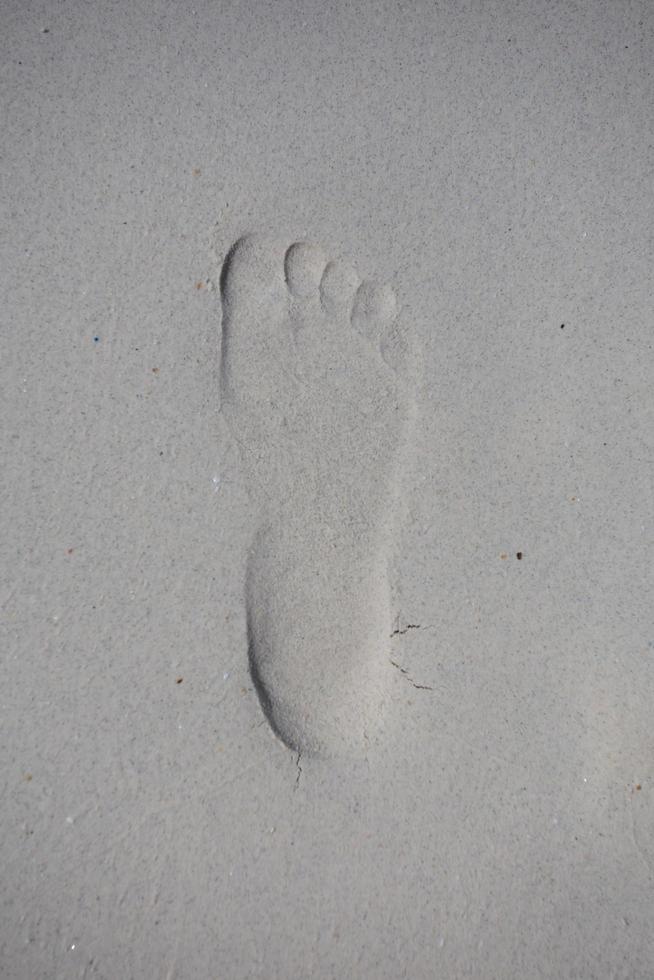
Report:
[[[298,753],[351,751],[392,676],[387,556],[413,416],[410,345],[389,286],[322,250],[256,237],[221,274],[221,410],[258,526],[249,663]]]

